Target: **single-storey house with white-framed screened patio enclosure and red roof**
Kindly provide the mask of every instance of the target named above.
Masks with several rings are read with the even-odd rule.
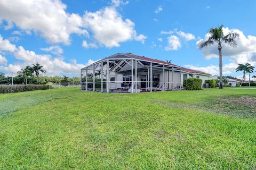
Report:
[[[165,61],[117,53],[81,69],[81,90],[144,92],[180,90],[183,80],[208,80],[211,74]]]

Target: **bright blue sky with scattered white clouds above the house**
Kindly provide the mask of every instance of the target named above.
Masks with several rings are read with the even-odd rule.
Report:
[[[223,45],[223,75],[241,78],[239,63],[256,66],[255,16],[254,0],[1,0],[0,72],[39,63],[46,75],[77,76],[101,58],[133,53],[218,75],[217,46],[198,46],[224,25],[240,37],[237,48]]]

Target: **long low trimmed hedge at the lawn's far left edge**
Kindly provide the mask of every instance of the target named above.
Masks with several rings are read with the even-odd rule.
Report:
[[[46,90],[49,89],[49,85],[1,85],[0,86],[0,94],[11,94],[13,92],[24,92],[24,91],[33,91],[33,90]]]

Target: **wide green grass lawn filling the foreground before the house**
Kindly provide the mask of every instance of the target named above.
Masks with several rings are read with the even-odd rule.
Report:
[[[255,169],[256,89],[0,95],[0,169]]]

